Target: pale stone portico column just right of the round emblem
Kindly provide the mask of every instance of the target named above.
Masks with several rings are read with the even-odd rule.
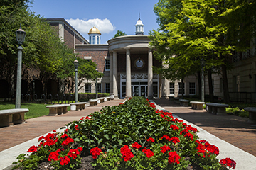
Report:
[[[148,59],[148,98],[153,98],[153,55],[152,51],[149,50],[149,59]]]

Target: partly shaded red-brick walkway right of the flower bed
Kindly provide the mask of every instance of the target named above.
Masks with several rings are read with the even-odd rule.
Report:
[[[207,132],[238,147],[245,152],[256,156],[256,126],[247,122],[247,118],[235,115],[213,115],[206,110],[193,110],[191,107],[182,107],[171,100],[154,100],[167,111],[178,115]]]

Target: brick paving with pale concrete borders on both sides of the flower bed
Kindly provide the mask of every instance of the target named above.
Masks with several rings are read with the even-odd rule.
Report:
[[[82,111],[68,111],[64,115],[31,118],[26,123],[0,128],[0,169],[10,169],[18,154],[25,153],[31,145],[38,144],[38,137],[52,130],[58,130],[73,120],[95,111],[103,106],[115,106],[124,100],[107,101],[90,106]],[[179,106],[167,99],[156,99],[157,108],[170,111],[174,117],[193,125],[200,131],[198,136],[220,148],[219,159],[230,157],[237,162],[236,170],[255,170],[256,162],[256,126],[247,122],[247,118],[235,115],[213,115],[205,110],[193,110]],[[60,130],[58,130],[60,131]]]

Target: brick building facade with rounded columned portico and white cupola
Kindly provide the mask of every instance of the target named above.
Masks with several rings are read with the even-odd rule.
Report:
[[[100,35],[100,31],[93,27],[88,33],[90,40],[92,30]],[[181,93],[179,81],[170,82],[154,74],[152,67],[159,67],[161,62],[154,59],[149,41],[149,35],[144,35],[144,25],[139,18],[135,25],[135,35],[112,38],[107,41],[107,45],[75,45],[75,52],[79,57],[95,62],[97,69],[104,73],[104,77],[97,80],[98,92],[113,94],[114,98],[178,96],[178,91]],[[188,84],[184,83],[185,94],[196,95],[198,87],[195,77],[187,77],[186,80]],[[85,81],[84,85],[79,92],[95,92],[95,82]]]

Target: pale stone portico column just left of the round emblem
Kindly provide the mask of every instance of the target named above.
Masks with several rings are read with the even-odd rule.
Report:
[[[126,51],[126,95],[125,98],[129,99],[132,97],[132,91],[131,91],[131,57],[130,57],[130,51]]]

